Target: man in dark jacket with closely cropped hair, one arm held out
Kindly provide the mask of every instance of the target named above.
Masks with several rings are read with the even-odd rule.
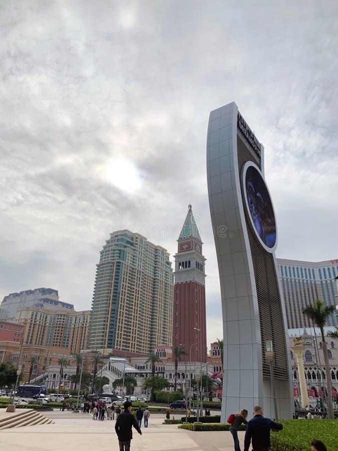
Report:
[[[269,451],[270,429],[281,430],[283,425],[275,423],[270,418],[264,418],[263,410],[259,405],[254,406],[252,413],[254,417],[246,426],[244,451],[249,451],[251,441],[253,451]]]

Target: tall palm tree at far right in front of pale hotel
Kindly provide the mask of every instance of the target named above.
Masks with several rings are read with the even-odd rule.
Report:
[[[334,419],[333,406],[332,406],[332,382],[331,382],[331,372],[328,362],[327,354],[327,344],[324,336],[324,326],[326,324],[327,318],[332,315],[335,311],[334,305],[324,305],[323,301],[315,299],[313,305],[307,305],[302,309],[303,315],[312,320],[313,324],[320,329],[321,340],[323,345],[324,363],[325,363],[325,373],[327,382],[327,417]]]

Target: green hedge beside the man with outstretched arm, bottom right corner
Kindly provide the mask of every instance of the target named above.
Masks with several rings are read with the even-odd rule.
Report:
[[[281,420],[283,429],[271,432],[273,451],[308,451],[312,440],[325,443],[327,451],[337,451],[338,421],[306,418]]]

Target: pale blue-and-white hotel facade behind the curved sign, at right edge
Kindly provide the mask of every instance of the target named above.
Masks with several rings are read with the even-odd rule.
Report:
[[[334,278],[338,276],[338,260],[302,262],[277,259],[277,264],[288,329],[313,326],[301,310],[315,299],[323,301],[324,305],[337,304]],[[327,319],[326,326],[338,326],[337,320],[333,313]]]

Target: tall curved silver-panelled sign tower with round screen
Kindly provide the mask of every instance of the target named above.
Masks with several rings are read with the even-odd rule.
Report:
[[[264,179],[264,147],[237,105],[211,111],[207,181],[223,315],[226,413],[261,405],[292,418],[294,401],[286,317],[274,251],[275,213]],[[265,342],[273,346],[275,399]]]

